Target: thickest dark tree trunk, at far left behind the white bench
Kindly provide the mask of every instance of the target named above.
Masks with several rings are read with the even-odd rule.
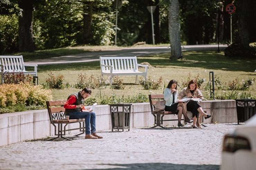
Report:
[[[33,27],[32,27],[32,13],[33,13],[33,0],[22,1],[19,4],[21,15],[19,16],[19,51],[20,52],[33,52]]]

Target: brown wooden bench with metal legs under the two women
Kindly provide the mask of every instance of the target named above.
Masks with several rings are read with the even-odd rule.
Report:
[[[156,102],[160,99],[160,100],[164,100],[164,94],[149,94],[149,103],[150,103],[150,108],[151,108],[151,113],[154,116],[154,124],[155,126],[151,127],[151,128],[155,128],[155,127],[161,127],[163,129],[166,129],[165,127],[163,127],[161,124],[163,124],[163,121],[175,121],[178,119],[163,119],[163,117],[167,114],[177,114],[177,113],[172,113],[170,111],[155,111],[155,105]],[[206,110],[203,110],[206,113]],[[191,113],[192,114],[192,113]],[[192,116],[191,116],[192,117]],[[203,116],[202,116],[203,118]],[[184,120],[184,119],[181,119]],[[203,120],[203,119],[202,119]],[[203,121],[202,121],[203,122]],[[202,124],[203,125],[203,124]],[[203,125],[204,126],[204,125]],[[204,126],[205,127],[205,126]]]

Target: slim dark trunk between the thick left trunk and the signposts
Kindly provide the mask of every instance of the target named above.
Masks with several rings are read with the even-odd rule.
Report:
[[[92,1],[83,1],[84,3],[84,13],[83,13],[83,32],[84,44],[91,44],[93,42],[93,33],[92,33]]]

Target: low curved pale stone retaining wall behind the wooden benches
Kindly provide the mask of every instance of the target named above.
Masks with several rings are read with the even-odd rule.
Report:
[[[203,101],[202,108],[207,109],[207,114],[212,117],[204,120],[203,123],[233,123],[237,122],[235,100],[212,100]],[[110,109],[108,105],[96,106],[96,128],[97,131],[111,129]],[[166,118],[174,115],[166,115]],[[175,118],[177,119],[177,117]],[[164,126],[176,126],[177,121],[165,121]],[[71,128],[78,125],[69,124]],[[130,127],[151,127],[154,126],[154,116],[150,111],[149,103],[134,103],[131,106]],[[76,133],[78,131],[71,131]],[[20,141],[45,138],[54,136],[54,126],[50,124],[47,109],[24,111],[16,113],[0,114],[0,146]]]

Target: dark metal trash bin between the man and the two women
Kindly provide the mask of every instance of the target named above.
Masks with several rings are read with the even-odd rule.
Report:
[[[113,129],[128,129],[130,131],[130,116],[132,104],[109,104],[111,125]]]

